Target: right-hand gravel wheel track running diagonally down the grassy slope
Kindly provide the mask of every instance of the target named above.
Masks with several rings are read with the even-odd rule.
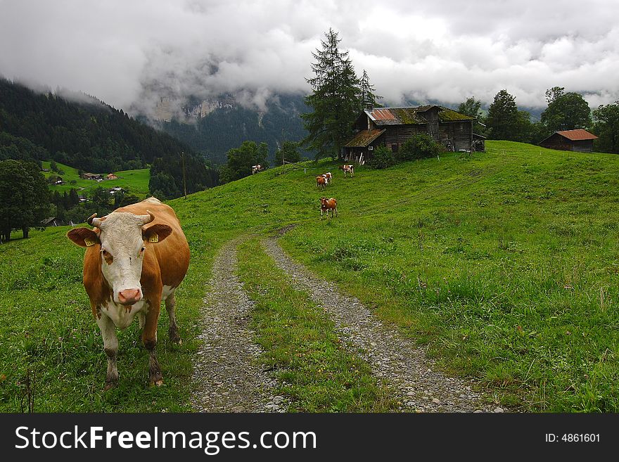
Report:
[[[284,230],[282,230],[285,232]],[[397,328],[385,326],[354,297],[312,275],[293,262],[276,238],[262,241],[276,264],[290,274],[299,290],[309,293],[336,323],[336,329],[360,350],[373,373],[394,390],[404,412],[503,412],[488,404],[471,385],[445,376],[421,347],[404,338]]]

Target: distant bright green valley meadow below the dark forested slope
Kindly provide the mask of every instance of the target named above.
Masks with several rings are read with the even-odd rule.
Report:
[[[42,167],[44,169],[49,169],[50,162],[41,162]],[[64,173],[60,175],[65,181],[65,184],[51,185],[49,186],[50,191],[58,191],[59,193],[64,193],[70,191],[72,188],[77,189],[79,195],[90,195],[91,192],[97,188],[115,188],[116,186],[120,186],[121,188],[129,191],[139,198],[146,198],[148,195],[148,180],[150,179],[151,172],[150,169],[137,169],[137,170],[123,170],[122,172],[110,172],[115,173],[118,179],[115,180],[105,180],[105,181],[93,181],[87,179],[79,178],[79,174],[77,174],[77,169],[73,167],[69,167],[68,165],[60,164],[60,162],[56,162],[58,169],[63,171]],[[94,172],[98,173],[98,172]],[[46,178],[58,175],[56,172],[43,172]],[[107,173],[102,174],[103,177],[106,176]],[[75,181],[75,183],[71,183],[71,181]]]

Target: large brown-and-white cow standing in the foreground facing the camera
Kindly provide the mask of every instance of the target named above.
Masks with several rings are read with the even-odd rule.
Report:
[[[171,207],[148,198],[106,217],[93,214],[88,224],[94,229],[75,228],[67,237],[86,248],[84,288],[108,357],[106,390],[118,381],[116,328],[125,329],[136,315],[149,353],[148,380],[161,385],[155,345],[162,300],[170,316],[170,340],[181,343],[174,291],[189,268],[189,245],[179,220]]]

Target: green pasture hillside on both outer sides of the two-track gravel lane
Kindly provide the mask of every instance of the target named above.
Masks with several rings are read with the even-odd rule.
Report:
[[[314,177],[330,170],[322,192]],[[184,345],[160,325],[165,387],[149,389],[137,328],[120,333],[120,387],[65,229],[0,246],[0,410],[19,410],[25,371],[38,411],[186,410],[191,355],[212,259],[227,240],[298,224],[293,257],[525,411],[619,411],[619,157],[488,141],[486,153],[384,171],[336,164],[270,169],[171,201],[192,252],[179,290]],[[339,217],[319,219],[321,195]],[[19,261],[15,266],[13,262]],[[263,265],[264,266],[264,265]],[[268,266],[268,265],[267,265]],[[3,379],[4,377],[4,379]]]

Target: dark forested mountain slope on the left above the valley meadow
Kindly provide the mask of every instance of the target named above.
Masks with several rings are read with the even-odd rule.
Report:
[[[177,197],[183,189],[181,152],[189,192],[217,184],[198,153],[122,110],[84,94],[37,93],[0,78],[0,160],[53,159],[86,172],[140,169],[162,160],[170,169],[152,173],[163,170],[172,181],[167,196]]]

